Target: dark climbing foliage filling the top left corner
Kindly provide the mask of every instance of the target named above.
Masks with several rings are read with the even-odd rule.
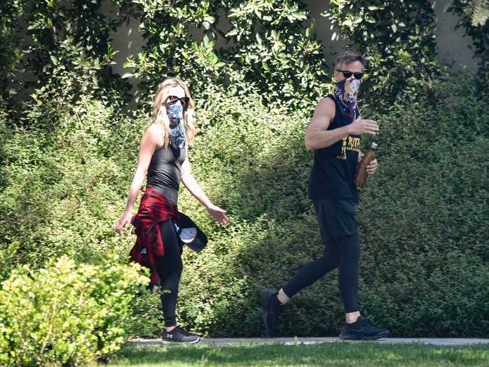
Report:
[[[45,98],[57,99],[70,109],[80,96],[92,94],[104,103],[122,106],[129,83],[112,73],[116,53],[110,32],[124,21],[117,11],[105,15],[102,2],[4,1],[0,6],[0,87],[3,104],[19,115],[13,96],[38,105]],[[27,93],[28,92],[28,93]],[[31,96],[32,99],[27,96]],[[14,108],[15,106],[15,108]]]

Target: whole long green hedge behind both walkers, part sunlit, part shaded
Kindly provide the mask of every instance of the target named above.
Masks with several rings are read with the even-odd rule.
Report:
[[[322,254],[306,192],[312,154],[302,142],[311,111],[265,107],[252,92],[239,99],[216,92],[205,102],[192,170],[231,224],[217,226],[182,193],[182,211],[210,244],[200,254],[184,252],[179,317],[210,336],[258,336],[261,287],[279,287]],[[416,103],[395,104],[385,115],[363,110],[377,118],[381,134],[379,172],[357,208],[360,304],[395,336],[489,332],[487,103],[466,78],[437,81]],[[10,138],[0,147],[2,269],[41,266],[64,253],[98,263],[109,249],[126,254],[132,245],[131,234],[114,236],[113,223],[147,116],[121,117],[93,101],[84,106],[78,116],[60,113],[49,131],[3,124]],[[140,298],[138,308],[147,318],[131,327],[156,335],[157,297]],[[333,272],[293,299],[279,333],[335,335],[342,321]]]

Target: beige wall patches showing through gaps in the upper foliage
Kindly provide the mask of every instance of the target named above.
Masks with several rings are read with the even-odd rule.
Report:
[[[328,18],[322,17],[321,13],[328,8],[328,1],[309,0],[307,1],[311,15],[316,21],[316,36],[324,47],[324,55],[328,64],[333,65],[333,60],[338,50],[344,49],[348,41],[341,38],[335,27],[330,24]],[[473,58],[474,52],[469,50],[470,38],[463,36],[463,30],[455,30],[457,17],[452,13],[447,13],[451,0],[432,0],[433,8],[436,12],[437,23],[437,45],[438,59],[440,62],[452,64],[453,71],[476,71],[476,59]],[[110,9],[107,9],[110,11]],[[221,19],[224,30],[228,30],[228,23]],[[196,37],[198,37],[198,30]],[[138,53],[143,47],[143,34],[139,31],[139,22],[131,19],[119,28],[116,34],[112,34],[112,45],[119,53],[115,57],[116,65],[113,69],[117,73],[130,72],[130,69],[124,69],[123,63],[129,55]],[[218,40],[218,43],[220,43]],[[137,80],[130,79],[133,85]],[[136,92],[136,88],[133,89]]]

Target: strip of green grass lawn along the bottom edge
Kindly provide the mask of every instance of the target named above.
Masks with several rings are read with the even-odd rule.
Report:
[[[314,345],[126,345],[109,366],[489,367],[489,345],[437,347],[372,342]]]

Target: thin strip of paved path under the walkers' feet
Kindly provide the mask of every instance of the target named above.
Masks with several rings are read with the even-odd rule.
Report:
[[[295,343],[314,344],[314,343],[332,343],[338,338],[204,338],[200,344],[226,345],[226,344],[270,344],[281,343],[291,345]],[[159,339],[131,339],[130,343],[138,345],[161,345]],[[357,342],[353,342],[357,343]],[[480,338],[382,338],[375,343],[381,344],[402,344],[402,343],[421,343],[430,345],[489,345],[489,339]]]

